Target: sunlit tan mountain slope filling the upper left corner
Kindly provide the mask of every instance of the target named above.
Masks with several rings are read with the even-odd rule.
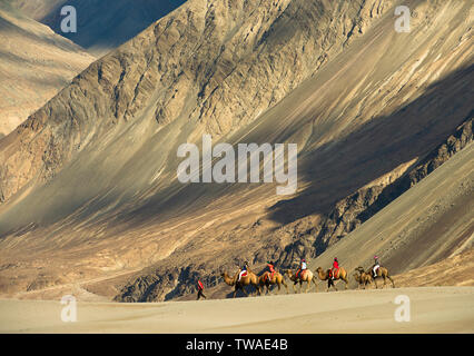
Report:
[[[0,1],[0,137],[93,60],[78,46]]]

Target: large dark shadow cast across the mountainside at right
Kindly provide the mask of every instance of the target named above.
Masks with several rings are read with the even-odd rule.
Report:
[[[412,167],[417,165],[472,118],[473,80],[474,66],[461,69],[389,116],[375,118],[347,137],[302,155],[298,175],[310,186],[274,205],[271,218],[288,224],[328,212],[337,201],[399,165],[413,159]]]

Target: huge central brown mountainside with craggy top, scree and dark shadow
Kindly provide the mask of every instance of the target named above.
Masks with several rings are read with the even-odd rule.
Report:
[[[350,239],[472,140],[470,4],[397,3],[190,0],[95,62],[0,141],[2,290],[170,299]],[[180,184],[204,132],[297,144],[298,190]]]

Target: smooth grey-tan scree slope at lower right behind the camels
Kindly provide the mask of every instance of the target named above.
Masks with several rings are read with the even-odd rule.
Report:
[[[377,255],[392,275],[413,269],[411,275],[416,276],[424,274],[423,267],[472,248],[473,158],[474,145],[471,144],[329,247],[310,263],[310,267],[329,268],[333,258],[337,257],[352,275],[357,266],[371,267],[373,256]],[[453,281],[458,283],[460,277],[464,277],[462,280],[465,281],[473,278],[470,274],[460,276],[455,270],[452,273]]]

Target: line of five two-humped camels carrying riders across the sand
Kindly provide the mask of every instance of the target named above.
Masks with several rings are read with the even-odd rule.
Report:
[[[308,293],[312,284],[315,286],[315,290],[318,291],[318,279],[327,283],[326,291],[329,291],[330,287],[337,290],[337,281],[344,281],[345,289],[348,288],[349,284],[348,274],[344,267],[339,267],[337,258],[334,258],[332,268],[323,269],[322,267],[318,267],[316,269],[316,274],[307,268],[305,259],[300,260],[298,269],[286,269],[284,274],[278,273],[275,269],[275,264],[271,261],[267,263],[267,267],[268,270],[265,270],[260,276],[258,276],[250,270],[248,263],[246,261],[243,267],[239,267],[238,271],[234,276],[229,276],[226,271],[224,271],[221,277],[228,286],[234,287],[234,298],[238,290],[241,290],[245,296],[248,296],[249,294],[245,289],[247,286],[251,286],[259,296],[264,289],[266,289],[265,294],[270,294],[271,286],[276,286],[278,288],[278,293],[280,293],[282,286],[284,286],[286,293],[288,293],[288,285],[285,281],[285,277],[293,283],[292,287],[295,293],[297,293],[296,285],[298,284],[299,293],[302,293],[304,284],[306,284],[305,293]],[[381,266],[377,256],[374,256],[374,265],[371,268],[364,270],[363,267],[357,267],[354,271],[354,279],[357,283],[357,289],[361,287],[365,289],[373,284],[375,285],[375,288],[378,288],[377,279],[379,278],[383,278],[384,280],[382,288],[386,286],[387,279],[392,283],[392,287],[395,288],[395,283],[389,276],[388,269]]]

